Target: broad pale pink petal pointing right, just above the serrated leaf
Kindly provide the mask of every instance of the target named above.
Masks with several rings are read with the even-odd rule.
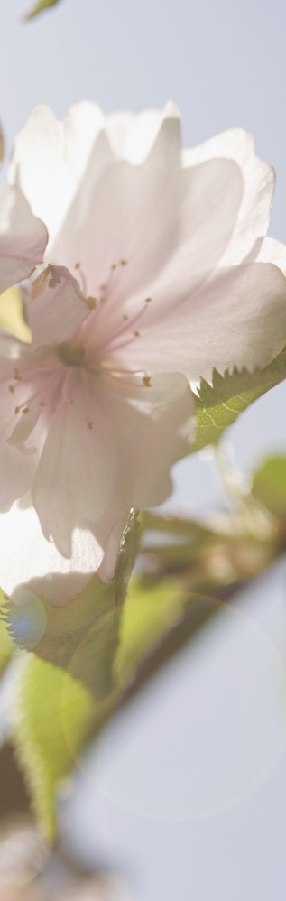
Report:
[[[266,366],[286,339],[286,279],[271,264],[234,266],[214,274],[194,294],[173,290],[169,314],[150,304],[139,337],[122,348],[125,366],[185,372],[211,380],[213,367]],[[152,309],[151,309],[152,307]]]

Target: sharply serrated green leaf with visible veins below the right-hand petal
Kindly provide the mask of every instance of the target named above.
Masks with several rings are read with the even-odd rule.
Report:
[[[239,413],[249,404],[278,385],[286,377],[286,348],[264,369],[249,373],[234,370],[220,376],[216,369],[213,384],[201,380],[198,395],[194,395],[197,432],[190,451],[199,451],[207,444],[216,444],[225,429],[235,423]]]

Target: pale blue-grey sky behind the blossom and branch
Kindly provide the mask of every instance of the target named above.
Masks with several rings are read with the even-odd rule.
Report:
[[[280,0],[61,0],[23,23],[28,9],[29,0],[1,5],[6,159],[39,102],[62,117],[82,98],[106,112],[174,98],[186,146],[233,125],[254,134],[277,174],[270,234],[286,240]],[[285,451],[285,401],[279,385],[227,433],[246,476]],[[222,506],[208,453],[177,465],[173,480],[166,510],[202,516]],[[115,717],[60,803],[78,866],[114,867],[138,901],[284,896],[285,576],[279,562],[232,608],[221,605]]]

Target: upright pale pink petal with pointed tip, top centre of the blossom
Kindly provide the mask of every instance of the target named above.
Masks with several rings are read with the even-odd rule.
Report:
[[[124,260],[125,278],[120,270],[119,291],[130,291],[130,283],[145,279],[146,269],[151,275],[160,269],[177,242],[180,176],[178,116],[162,119],[143,166],[117,160],[99,171],[98,153],[92,153],[64,228],[52,246],[54,258],[70,272],[80,264],[78,277],[93,296],[115,274],[112,267],[120,270]],[[115,284],[117,276],[118,271]]]

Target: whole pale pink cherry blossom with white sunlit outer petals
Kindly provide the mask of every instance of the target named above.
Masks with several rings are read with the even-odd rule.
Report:
[[[32,343],[1,338],[0,584],[60,605],[112,578],[130,508],[170,493],[190,385],[284,346],[286,248],[265,238],[274,176],[252,138],[182,152],[172,103],[104,118],[83,102],[63,124],[38,107],[10,181],[49,240],[23,287]],[[29,274],[23,235],[8,283]]]

